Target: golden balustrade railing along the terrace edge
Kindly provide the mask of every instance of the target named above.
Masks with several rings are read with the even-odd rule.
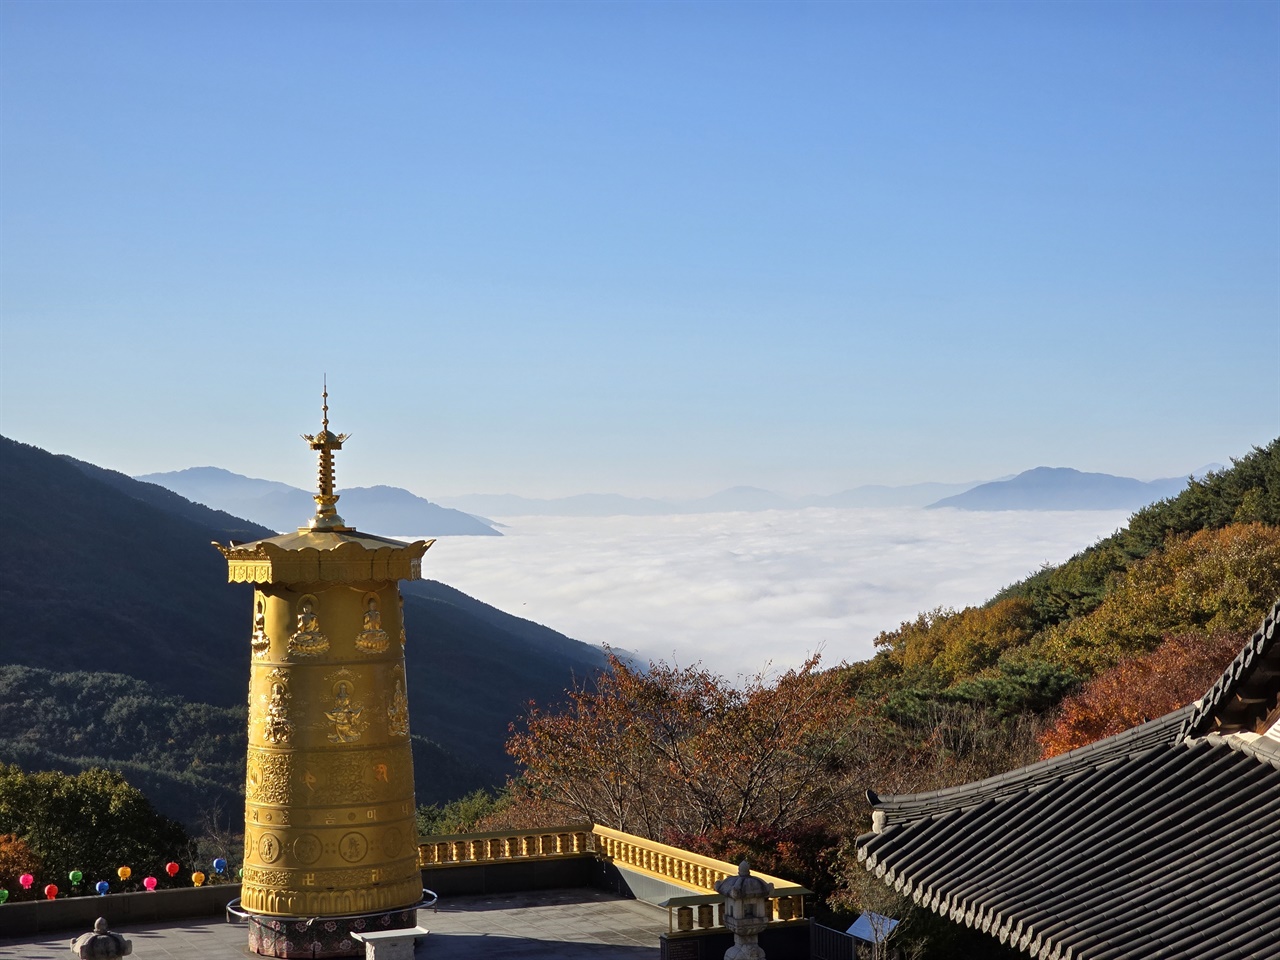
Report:
[[[598,823],[422,837],[417,846],[417,864],[425,869],[584,854],[594,854],[628,870],[689,890],[690,896],[671,897],[659,904],[667,908],[667,924],[672,933],[692,931],[695,916],[699,928],[724,925],[724,902],[716,892],[716,883],[737,874],[735,864],[602,827]],[[751,876],[773,884],[773,896],[769,901],[771,919],[804,918],[804,899],[810,896],[812,891],[767,873],[753,870]]]

